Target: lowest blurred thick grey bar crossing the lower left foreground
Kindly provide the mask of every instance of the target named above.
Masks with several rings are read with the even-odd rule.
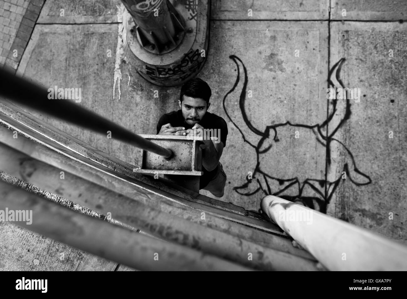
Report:
[[[71,211],[0,181],[0,210],[32,210],[32,224],[16,224],[70,246],[142,271],[246,271],[211,255],[142,236]]]

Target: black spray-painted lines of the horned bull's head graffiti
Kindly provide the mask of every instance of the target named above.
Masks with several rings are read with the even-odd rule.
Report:
[[[365,183],[359,183],[359,182],[355,181],[354,179],[352,179],[352,176],[350,175],[350,172],[349,172],[348,163],[345,163],[344,167],[343,167],[343,171],[345,171],[346,174],[348,174],[348,177],[349,177],[350,181],[352,183],[354,183],[356,186],[368,185],[368,184],[370,184],[372,182],[372,180],[370,179],[370,177],[368,175],[364,174],[363,172],[361,172],[357,168],[355,160],[354,160],[354,156],[352,155],[350,150],[342,142],[340,142],[339,140],[333,138],[333,136],[335,135],[337,130],[344,124],[344,122],[346,122],[346,120],[348,120],[350,118],[351,111],[350,111],[350,102],[349,102],[348,97],[346,97],[346,108],[345,108],[344,115],[340,118],[340,121],[339,121],[339,124],[337,125],[337,127],[328,136],[325,136],[322,133],[322,127],[327,126],[328,123],[334,118],[335,114],[337,113],[337,100],[333,100],[332,111],[330,113],[328,112],[327,118],[326,118],[326,120],[324,120],[324,122],[322,122],[322,124],[314,124],[314,125],[292,124],[291,122],[287,121],[287,122],[280,123],[280,124],[268,125],[268,126],[265,127],[264,132],[262,132],[259,129],[257,129],[256,127],[254,127],[254,125],[248,119],[247,113],[245,111],[246,88],[247,88],[247,83],[248,83],[247,69],[246,69],[243,61],[241,61],[241,59],[239,59],[239,57],[236,57],[235,55],[230,55],[229,58],[232,59],[234,61],[234,63],[236,64],[237,76],[236,76],[236,81],[235,81],[234,85],[232,86],[230,91],[227,92],[225,94],[225,96],[223,97],[223,109],[224,109],[224,111],[226,113],[226,116],[229,118],[229,120],[234,124],[234,126],[241,133],[241,135],[243,137],[243,142],[246,142],[247,144],[252,146],[254,148],[254,150],[255,150],[257,163],[256,163],[256,166],[255,166],[255,170],[253,172],[253,178],[256,179],[256,182],[258,183],[258,186],[259,186],[253,192],[246,192],[246,193],[241,192],[240,191],[241,189],[248,188],[249,184],[252,183],[252,180],[249,179],[248,177],[246,177],[246,182],[243,185],[235,186],[233,188],[237,193],[239,193],[241,195],[245,195],[245,196],[252,196],[252,195],[256,194],[258,191],[261,190],[261,191],[263,191],[263,193],[265,195],[272,194],[272,195],[278,195],[278,196],[280,196],[282,198],[289,199],[289,200],[303,201],[304,203],[306,203],[306,205],[308,205],[308,206],[310,206],[312,208],[314,208],[313,201],[316,201],[318,203],[318,205],[319,205],[319,210],[321,212],[326,212],[326,207],[327,207],[328,203],[330,202],[330,199],[332,198],[335,190],[337,189],[337,186],[339,185],[339,183],[341,181],[341,177],[339,177],[335,181],[327,181],[326,179],[321,180],[321,179],[307,178],[304,181],[300,182],[298,180],[298,177],[292,177],[290,179],[282,179],[282,178],[278,178],[278,177],[273,177],[273,176],[267,174],[266,172],[264,172],[264,171],[262,171],[260,169],[259,155],[267,153],[272,147],[272,144],[270,144],[267,148],[260,151],[260,148],[262,147],[263,143],[270,136],[270,129],[274,131],[274,138],[273,138],[274,142],[278,142],[279,141],[279,139],[278,139],[278,128],[279,127],[284,127],[284,126],[302,127],[302,128],[312,130],[313,134],[316,137],[317,142],[319,144],[321,144],[322,146],[327,148],[327,150],[326,150],[326,153],[327,153],[326,162],[328,163],[328,165],[330,165],[330,163],[331,163],[330,144],[331,144],[332,141],[338,142],[341,146],[343,146],[345,148],[346,152],[349,154],[349,156],[351,158],[351,161],[352,161],[352,164],[354,165],[353,171],[368,180]],[[239,97],[239,107],[241,109],[241,117],[242,117],[244,123],[246,124],[246,126],[249,128],[249,130],[252,131],[254,134],[261,137],[261,139],[260,139],[260,141],[258,142],[257,145],[254,145],[251,142],[249,142],[249,140],[247,140],[247,138],[246,138],[245,134],[243,133],[243,131],[241,130],[241,128],[230,117],[230,115],[228,113],[228,110],[226,109],[226,106],[225,106],[226,98],[228,97],[228,95],[230,95],[232,92],[235,91],[235,89],[238,86],[238,84],[240,82],[240,79],[241,79],[241,76],[240,76],[241,67],[240,67],[238,61],[241,63],[242,70],[243,70],[243,73],[244,73],[243,87],[242,87],[240,97]],[[337,63],[335,63],[335,65],[333,65],[333,67],[329,71],[329,73],[328,73],[328,83],[331,86],[334,86],[334,84],[333,84],[333,82],[331,80],[331,76],[332,76],[332,74],[333,74],[333,72],[335,71],[335,68],[336,68],[336,72],[335,72],[336,79],[339,82],[339,84],[341,85],[341,87],[345,88],[344,84],[341,81],[340,76],[339,76],[340,71],[341,71],[341,67],[342,67],[342,64],[344,63],[344,61],[345,61],[344,58],[340,59]],[[329,111],[329,105],[328,105],[328,111]],[[326,142],[326,144],[324,144],[324,142]],[[258,177],[256,177],[256,174],[258,174]],[[260,182],[261,178],[263,178],[264,181],[265,181],[265,188],[263,188],[263,186],[262,186],[262,184]],[[284,183],[289,183],[289,184],[287,186],[284,186],[284,188],[281,188],[280,190],[276,190],[276,191],[272,192],[272,190],[270,188],[270,185],[269,185],[268,179],[273,179],[273,180],[278,181],[279,185],[283,185]],[[290,189],[295,184],[298,185],[297,194],[295,194],[293,196],[280,195],[282,192]],[[318,185],[320,187],[329,186],[328,189],[327,189],[328,191],[321,192],[317,188]],[[315,191],[318,194],[319,197],[302,196],[302,191],[303,191],[305,186],[309,186],[313,191]]]

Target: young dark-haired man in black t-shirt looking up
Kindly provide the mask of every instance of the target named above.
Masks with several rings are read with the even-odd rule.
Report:
[[[219,162],[226,146],[228,125],[225,120],[208,112],[212,95],[208,83],[202,79],[191,79],[181,87],[178,104],[181,109],[161,116],[157,124],[158,135],[194,135],[204,137],[202,148],[202,171],[199,189],[208,190],[222,197],[226,174]],[[204,134],[202,134],[204,132]]]

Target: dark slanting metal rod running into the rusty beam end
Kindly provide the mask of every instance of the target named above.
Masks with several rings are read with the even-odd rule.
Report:
[[[163,156],[166,159],[173,157],[173,152],[170,149],[146,140],[68,99],[48,99],[48,94],[48,89],[0,68],[0,96],[85,129],[101,134],[107,134],[107,131],[110,131],[112,138]]]

